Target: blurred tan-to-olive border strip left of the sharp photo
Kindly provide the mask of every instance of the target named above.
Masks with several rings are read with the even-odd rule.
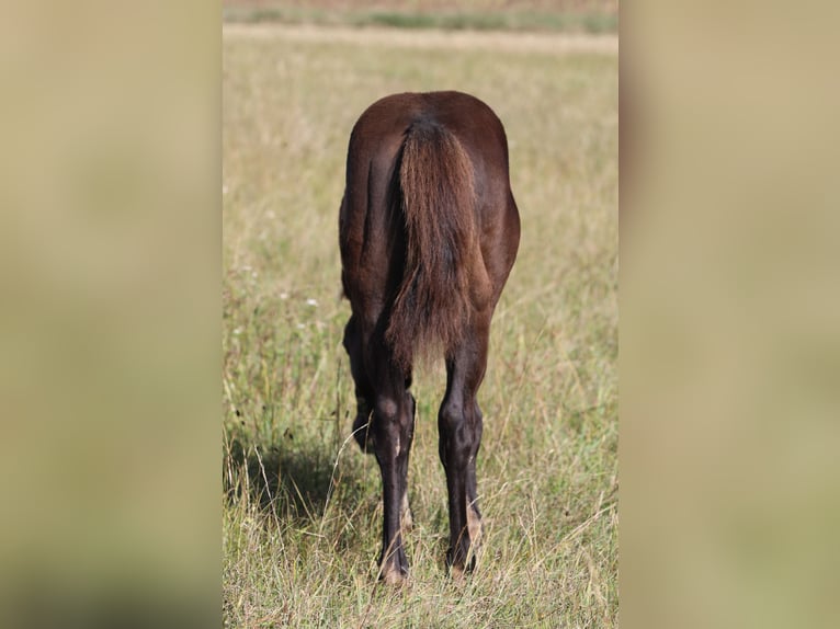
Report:
[[[0,23],[0,625],[220,613],[220,7]]]

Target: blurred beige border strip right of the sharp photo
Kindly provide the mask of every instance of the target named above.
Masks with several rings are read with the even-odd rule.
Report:
[[[837,627],[837,4],[621,20],[622,627]]]

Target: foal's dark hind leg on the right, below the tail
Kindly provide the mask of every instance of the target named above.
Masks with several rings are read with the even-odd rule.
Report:
[[[476,401],[487,366],[490,314],[477,313],[462,345],[446,361],[446,394],[438,414],[441,462],[450,502],[450,549],[454,573],[475,567],[481,534],[476,456],[481,444],[481,411]]]

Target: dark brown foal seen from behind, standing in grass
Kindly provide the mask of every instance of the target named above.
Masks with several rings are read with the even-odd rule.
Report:
[[[454,573],[475,565],[481,533],[476,393],[490,319],[519,247],[508,142],[493,112],[459,92],[386,96],[350,136],[339,216],[344,347],[355,384],[353,432],[382,472],[379,576],[408,574],[401,530],[411,524],[408,457],[416,358],[442,356],[446,392],[438,414],[446,471]]]

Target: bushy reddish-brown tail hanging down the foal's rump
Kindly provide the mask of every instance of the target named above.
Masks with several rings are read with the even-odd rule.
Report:
[[[470,318],[470,293],[489,283],[480,258],[473,163],[444,126],[418,121],[398,160],[406,264],[385,332],[395,362],[410,369],[415,352],[447,355]],[[476,270],[480,266],[480,277]]]

